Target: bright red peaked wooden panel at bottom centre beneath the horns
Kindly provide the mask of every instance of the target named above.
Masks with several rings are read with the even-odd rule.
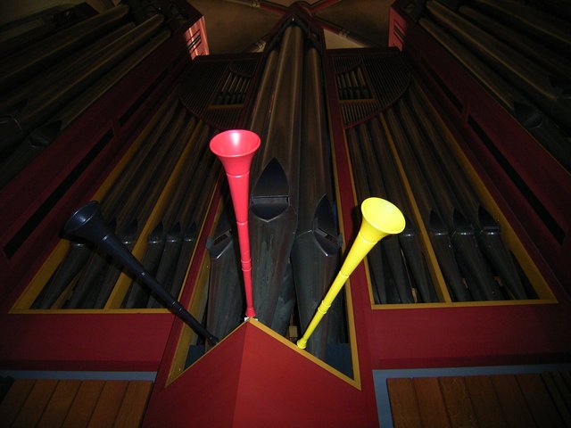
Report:
[[[162,370],[170,368],[165,360],[144,426],[378,425],[366,358],[360,359],[358,388],[252,323],[238,327],[161,388]]]

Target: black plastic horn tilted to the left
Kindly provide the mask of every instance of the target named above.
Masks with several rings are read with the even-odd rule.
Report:
[[[70,219],[63,226],[63,230],[70,235],[79,236],[87,239],[91,243],[95,243],[103,252],[112,256],[120,264],[131,270],[137,277],[147,285],[156,296],[162,300],[165,306],[170,309],[177,317],[181,318],[194,332],[202,335],[212,345],[218,343],[218,338],[209,333],[196,318],[180,304],[178,300],[170,295],[159,282],[149,274],[139,263],[133,254],[128,251],[119,238],[112,233],[112,230],[105,224],[99,204],[95,201],[87,202],[79,210],[75,211]]]

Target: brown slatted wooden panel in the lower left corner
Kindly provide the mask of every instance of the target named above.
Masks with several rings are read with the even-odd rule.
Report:
[[[148,381],[17,379],[0,402],[0,427],[137,427]]]

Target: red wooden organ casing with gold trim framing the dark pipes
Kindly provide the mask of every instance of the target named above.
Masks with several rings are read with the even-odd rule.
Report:
[[[313,25],[310,17],[295,8],[282,22],[299,16]],[[361,264],[351,276],[345,297],[352,375],[298,350],[257,321],[239,325],[188,367],[186,353],[195,338],[166,310],[119,306],[29,309],[38,292],[29,284],[35,284],[38,275],[46,275],[42,274],[46,263],[62,257],[54,253],[62,223],[81,202],[109,185],[108,176],[118,174],[117,166],[142,138],[140,133],[148,132],[161,117],[163,100],[178,81],[186,86],[186,104],[212,128],[246,126],[265,57],[193,56],[191,62],[188,45],[202,49],[199,54],[208,49],[203,18],[196,13],[189,20],[188,31],[173,35],[0,191],[4,220],[0,231],[0,368],[156,372],[144,426],[183,422],[244,426],[252,421],[279,426],[300,421],[374,426],[378,423],[379,394],[374,371],[568,362],[571,278],[565,264],[567,219],[571,218],[569,173],[428,37],[401,2],[391,9],[390,25],[390,45],[403,51],[411,78],[458,144],[454,156],[466,167],[478,192],[487,195],[493,214],[499,213],[504,222],[502,226],[509,228],[517,251],[524,254],[522,260],[530,263],[525,272],[535,283],[537,299],[458,302],[443,297],[443,285],[438,292],[442,299],[437,302],[379,304],[373,298],[370,268]],[[195,42],[197,35],[202,35],[203,45]],[[368,55],[395,54],[394,47],[322,53],[335,193],[345,243],[358,228],[353,217],[358,172],[352,165],[346,131],[390,106],[381,106],[378,97],[368,96],[352,110],[359,103],[343,101],[336,79],[343,70],[335,69],[335,60],[349,58],[357,63]],[[355,60],[357,57],[361,59]],[[223,108],[213,101],[214,91],[201,91],[200,86],[221,88],[221,81],[212,83],[209,78],[216,73],[222,76],[225,70],[247,78],[248,85],[241,102]],[[446,89],[434,75],[448,85]],[[185,80],[189,76],[194,78]],[[193,86],[194,82],[199,84]],[[457,98],[460,109],[447,92]],[[136,108],[131,108],[133,105]],[[482,141],[482,132],[486,141]],[[513,139],[525,146],[525,152],[513,150]],[[72,157],[62,155],[79,141],[79,152]],[[509,170],[506,165],[511,165]],[[525,192],[533,193],[532,199],[542,203],[541,210],[554,223],[546,224],[540,218],[537,206],[522,194],[521,182],[514,183],[514,170],[528,189]],[[402,174],[406,176],[406,170]],[[219,216],[221,193],[219,182],[211,193],[208,215],[180,295],[193,313],[203,310],[200,284],[208,265],[204,248]],[[554,230],[559,230],[555,236]],[[433,277],[438,276],[437,270],[432,271]]]

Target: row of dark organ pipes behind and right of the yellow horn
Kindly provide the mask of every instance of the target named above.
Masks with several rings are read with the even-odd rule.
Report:
[[[385,238],[380,248],[368,255],[377,302],[443,300],[426,265],[399,163],[451,300],[535,298],[501,238],[501,226],[478,201],[451,156],[449,144],[454,143],[437,123],[413,84],[398,103],[377,118],[346,131],[358,199],[380,194],[395,202],[407,219],[404,232]]]

